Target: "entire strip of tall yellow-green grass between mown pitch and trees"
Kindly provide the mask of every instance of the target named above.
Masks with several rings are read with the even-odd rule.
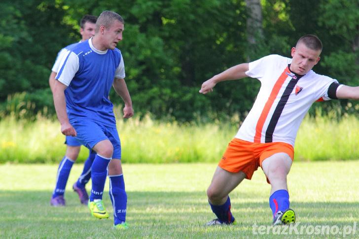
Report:
[[[120,112],[120,109],[115,109]],[[161,122],[148,115],[117,117],[122,159],[127,163],[215,163],[238,130],[233,122],[207,124]],[[359,158],[359,119],[305,117],[295,144],[294,161],[355,160]],[[65,137],[58,121],[37,117],[33,122],[7,117],[0,120],[0,163],[58,163]],[[82,146],[79,162],[88,156]]]

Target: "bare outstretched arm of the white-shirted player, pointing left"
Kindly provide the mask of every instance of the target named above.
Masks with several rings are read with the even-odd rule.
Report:
[[[203,82],[199,93],[207,94],[213,91],[213,88],[218,82],[225,80],[238,80],[247,77],[246,71],[249,70],[249,64],[243,63],[237,66],[228,68],[223,72],[213,76],[211,79]]]

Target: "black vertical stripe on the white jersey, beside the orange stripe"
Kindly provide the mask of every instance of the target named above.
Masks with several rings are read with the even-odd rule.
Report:
[[[273,133],[274,129],[276,128],[276,125],[278,123],[279,117],[281,116],[284,106],[286,105],[290,93],[293,92],[293,89],[295,85],[297,84],[298,80],[302,75],[295,74],[296,79],[291,79],[286,87],[286,89],[283,92],[283,95],[281,97],[281,100],[278,102],[276,109],[274,110],[274,113],[272,115],[271,120],[269,121],[269,125],[267,128],[267,131],[265,132],[265,142],[270,143],[273,141]]]

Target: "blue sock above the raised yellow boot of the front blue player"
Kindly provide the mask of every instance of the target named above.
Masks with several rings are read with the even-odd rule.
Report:
[[[94,199],[102,199],[102,194],[104,193],[104,187],[107,177],[107,167],[110,160],[110,158],[104,158],[96,154],[96,157],[91,167],[92,189],[90,195],[90,202],[93,202]]]

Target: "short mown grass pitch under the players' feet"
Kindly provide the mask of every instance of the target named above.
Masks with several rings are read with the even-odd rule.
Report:
[[[238,225],[204,227],[215,218],[206,189],[216,164],[124,164],[130,229],[114,231],[108,182],[108,219],[92,217],[72,192],[82,164],[72,168],[67,206],[50,206],[57,167],[0,165],[0,238],[359,238],[359,161],[294,162],[288,186],[298,228],[287,235],[260,229],[272,221],[270,186],[261,170],[230,194]]]

